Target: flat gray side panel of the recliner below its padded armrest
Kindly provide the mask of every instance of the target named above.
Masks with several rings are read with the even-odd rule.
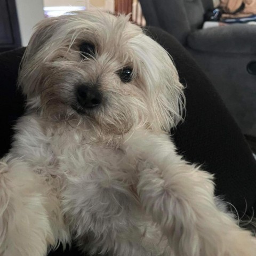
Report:
[[[256,55],[187,50],[204,69],[242,132],[256,137],[256,76],[246,70]]]

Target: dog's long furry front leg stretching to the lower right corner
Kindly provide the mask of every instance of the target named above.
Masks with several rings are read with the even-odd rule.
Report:
[[[255,239],[215,204],[212,175],[175,153],[165,134],[134,132],[127,154],[138,158],[138,194],[175,256],[253,256]]]

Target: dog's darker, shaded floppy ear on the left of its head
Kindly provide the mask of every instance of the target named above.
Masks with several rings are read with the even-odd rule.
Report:
[[[39,89],[38,83],[42,75],[40,69],[45,51],[47,51],[46,44],[54,35],[57,27],[57,18],[45,18],[35,26],[34,33],[29,40],[21,61],[18,80],[19,86],[28,98],[33,97]]]

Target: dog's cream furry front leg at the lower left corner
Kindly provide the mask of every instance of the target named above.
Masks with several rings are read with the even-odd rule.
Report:
[[[1,159],[0,255],[44,256],[58,239],[68,233],[54,189],[20,158]]]

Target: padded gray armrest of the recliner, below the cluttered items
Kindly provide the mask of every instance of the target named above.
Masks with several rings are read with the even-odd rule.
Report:
[[[187,45],[204,52],[256,54],[256,26],[234,24],[199,29],[188,36]]]

